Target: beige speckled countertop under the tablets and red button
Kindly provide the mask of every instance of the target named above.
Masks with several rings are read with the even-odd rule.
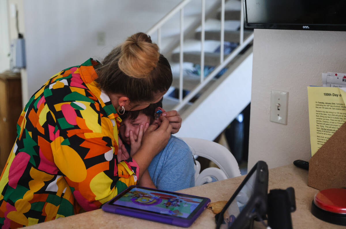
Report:
[[[228,200],[237,189],[245,176],[235,177],[227,180],[217,181],[206,185],[183,189],[179,192],[204,196],[210,198],[211,202]],[[313,197],[318,192],[311,188],[308,183],[308,171],[292,165],[282,166],[269,170],[268,189],[286,189],[293,187],[295,190],[295,202],[297,210],[292,213],[294,229],[338,229],[345,228],[317,219],[310,212]],[[268,190],[268,191],[269,191]],[[214,214],[206,209],[190,228],[215,228]],[[81,213],[66,218],[39,223],[28,227],[34,228],[181,228],[163,223],[147,221],[143,219],[131,218],[104,212],[101,209]],[[261,223],[256,222],[255,228],[265,228]]]

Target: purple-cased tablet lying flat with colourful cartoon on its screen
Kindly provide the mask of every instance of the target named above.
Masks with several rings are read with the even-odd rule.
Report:
[[[102,210],[180,227],[189,227],[210,203],[209,198],[129,186]]]

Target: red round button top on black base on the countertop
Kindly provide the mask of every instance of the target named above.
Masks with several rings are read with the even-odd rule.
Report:
[[[346,214],[346,189],[330,188],[319,191],[313,202],[325,211]]]

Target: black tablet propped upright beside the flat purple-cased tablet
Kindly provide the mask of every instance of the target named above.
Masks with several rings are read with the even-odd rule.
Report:
[[[265,219],[267,212],[268,166],[258,161],[249,171],[222,211],[216,215],[216,228],[252,228],[255,218]]]

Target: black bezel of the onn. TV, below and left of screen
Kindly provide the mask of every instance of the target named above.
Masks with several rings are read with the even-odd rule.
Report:
[[[246,0],[243,0],[244,27],[247,29],[284,29],[312,31],[346,31],[346,24],[248,23]]]

